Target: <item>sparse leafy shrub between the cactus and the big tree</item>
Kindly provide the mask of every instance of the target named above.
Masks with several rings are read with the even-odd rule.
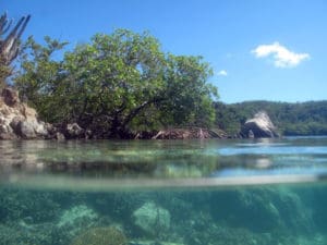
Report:
[[[57,102],[61,99],[56,100],[55,96],[60,94],[65,75],[63,62],[52,60],[52,54],[68,42],[59,42],[50,37],[45,37],[45,41],[46,46],[40,46],[33,37],[27,39],[20,57],[21,71],[14,81],[23,99],[28,98],[28,103],[46,121],[56,121],[62,118],[64,111],[61,108],[57,111],[59,114],[53,113],[53,107],[59,106]]]

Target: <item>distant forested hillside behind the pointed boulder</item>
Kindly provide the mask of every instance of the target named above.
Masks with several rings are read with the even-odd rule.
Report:
[[[271,102],[247,101],[226,105],[214,103],[215,124],[230,135],[257,111],[265,110],[282,135],[327,135],[327,101]]]

